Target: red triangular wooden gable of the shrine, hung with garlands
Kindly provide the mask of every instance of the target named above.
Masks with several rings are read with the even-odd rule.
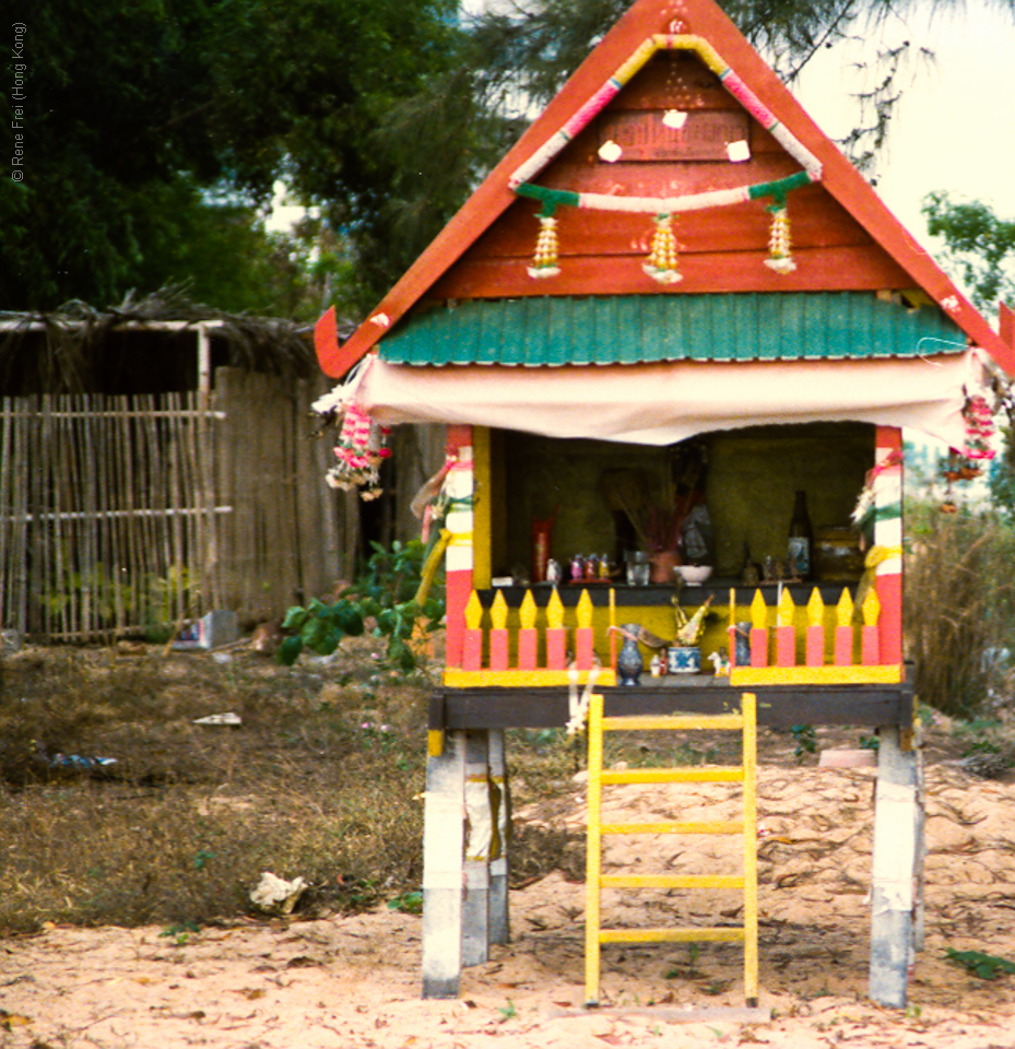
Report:
[[[780,262],[769,212],[787,200]],[[711,0],[639,0],[344,345],[321,319],[318,356],[344,374],[424,298],[846,290],[922,292],[1015,370],[1015,347]]]

